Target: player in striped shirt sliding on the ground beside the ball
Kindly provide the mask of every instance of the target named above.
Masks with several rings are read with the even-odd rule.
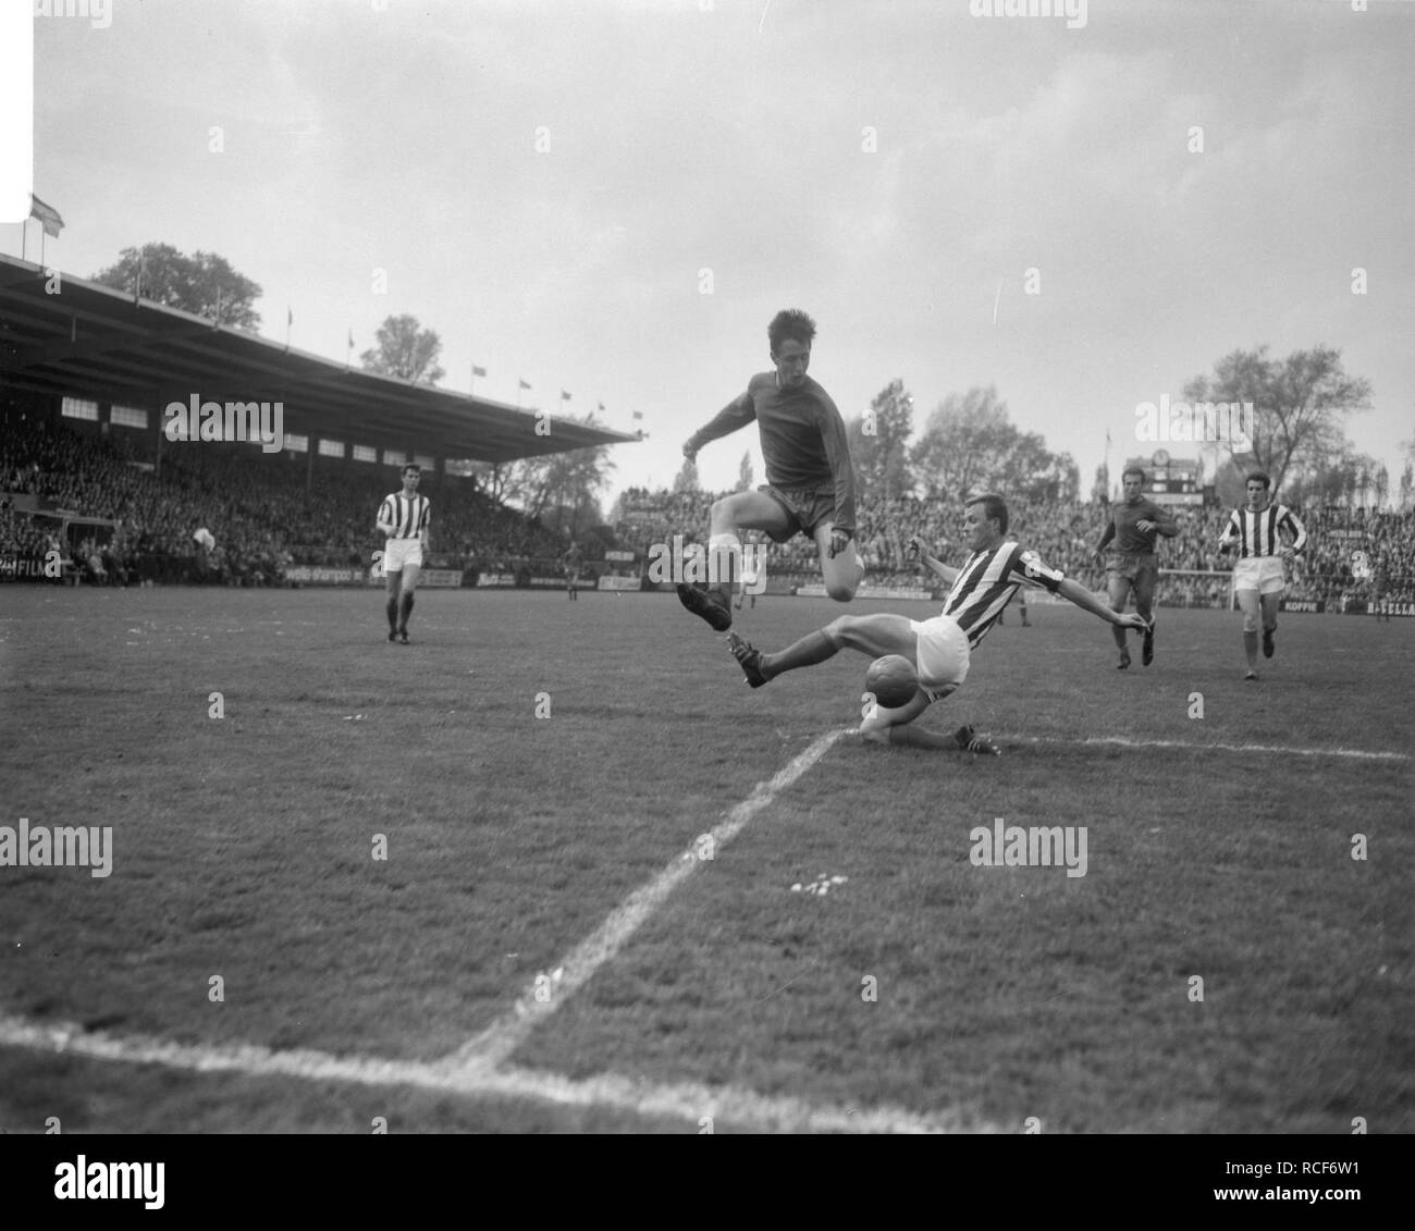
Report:
[[[1084,586],[1047,567],[1036,552],[1024,550],[1009,539],[1007,505],[1002,497],[979,495],[968,501],[964,507],[964,535],[972,555],[961,569],[951,569],[935,560],[923,550],[917,538],[908,543],[908,553],[921,557],[951,586],[941,614],[923,621],[890,614],[842,616],[778,654],[763,654],[732,634],[727,644],[741,665],[747,683],[761,688],[785,671],[814,666],[842,649],[859,649],[870,658],[903,654],[918,674],[914,698],[894,709],[874,706],[860,723],[860,734],[879,744],[996,754],[998,749],[971,726],[961,726],[954,734],[944,736],[920,730],[910,723],[964,682],[972,649],[1020,586],[1043,586],[1111,624],[1145,627],[1138,614],[1114,611]]]

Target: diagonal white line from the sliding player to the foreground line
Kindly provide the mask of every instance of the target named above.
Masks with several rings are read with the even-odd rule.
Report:
[[[846,734],[846,730],[835,730],[821,736],[770,782],[758,782],[751,795],[727,814],[726,821],[716,829],[709,831],[713,853],[736,838],[756,812],[760,812],[781,791],[819,761],[831,746]],[[507,1060],[541,1022],[584,986],[590,976],[613,958],[623,948],[624,942],[638,931],[644,921],[664,904],[668,896],[692,876],[700,863],[706,862],[698,857],[698,850],[695,849],[700,840],[700,838],[695,839],[693,846],[674,859],[648,884],[641,886],[624,898],[610,913],[610,917],[566,954],[566,957],[559,962],[552,962],[549,969],[559,972],[559,978],[552,979],[550,975],[538,975],[536,981],[521,992],[521,996],[511,1009],[447,1057],[449,1061],[477,1068],[491,1068]]]

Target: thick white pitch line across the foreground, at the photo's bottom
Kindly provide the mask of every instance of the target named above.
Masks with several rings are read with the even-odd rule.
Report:
[[[160,1064],[184,1073],[294,1077],[366,1087],[412,1087],[467,1097],[533,1098],[559,1106],[611,1108],[635,1115],[703,1116],[746,1129],[775,1132],[957,1133],[1006,1132],[957,1114],[918,1114],[900,1106],[843,1108],[798,1098],[773,1098],[740,1087],[655,1082],[617,1074],[582,1081],[531,1068],[483,1070],[437,1061],[378,1060],[324,1051],[272,1051],[250,1044],[192,1046],[153,1036],[115,1037],[78,1024],[41,1026],[0,1015],[0,1047],[28,1047],[51,1056],[81,1056],[123,1064]]]

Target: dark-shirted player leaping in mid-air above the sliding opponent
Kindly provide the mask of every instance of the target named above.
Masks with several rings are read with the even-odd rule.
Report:
[[[767,327],[775,369],[747,382],[706,427],[683,446],[683,457],[698,457],[710,440],[729,436],[753,420],[761,432],[767,482],[712,507],[708,555],[716,580],[678,586],[678,597],[715,631],[732,628],[732,586],[741,572],[740,529],[766,531],[784,543],[802,533],[821,553],[825,591],[849,603],[865,569],[855,549],[855,468],[845,420],[835,402],[805,369],[811,364],[815,321],[799,308],[780,311]],[[726,573],[726,576],[723,576]]]

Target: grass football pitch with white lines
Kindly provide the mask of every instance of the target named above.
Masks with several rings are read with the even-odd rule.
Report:
[[[1254,685],[1235,614],[1129,672],[1009,614],[923,720],[976,758],[828,739],[863,657],[751,692],[669,596],[0,601],[0,825],[113,856],[0,867],[0,1129],[1415,1128],[1409,623],[1285,616]],[[975,866],[999,816],[1085,874]]]

